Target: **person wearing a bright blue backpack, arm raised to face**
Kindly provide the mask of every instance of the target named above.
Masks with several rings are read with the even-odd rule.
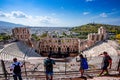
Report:
[[[80,54],[79,57],[80,57],[80,59],[77,60],[77,58],[76,58],[76,61],[77,61],[77,62],[80,62],[79,71],[80,71],[80,73],[81,73],[81,77],[83,77],[84,70],[85,70],[85,69],[88,69],[88,63],[87,63],[86,58],[84,58],[82,54]]]

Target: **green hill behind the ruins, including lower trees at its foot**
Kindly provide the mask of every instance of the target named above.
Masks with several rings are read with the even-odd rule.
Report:
[[[76,26],[72,28],[71,31],[78,33],[78,38],[87,38],[87,35],[89,33],[97,33],[98,28],[100,28],[101,26],[105,27],[110,34],[114,35],[111,36],[112,38],[115,38],[115,35],[120,34],[120,26],[96,23],[89,23],[82,26]]]

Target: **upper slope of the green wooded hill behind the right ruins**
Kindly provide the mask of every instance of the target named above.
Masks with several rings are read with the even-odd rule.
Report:
[[[95,24],[90,23],[82,26],[76,26],[71,30],[76,33],[86,32],[86,33],[96,33],[99,27],[105,27],[108,32],[120,34],[120,26],[108,25],[108,24]]]

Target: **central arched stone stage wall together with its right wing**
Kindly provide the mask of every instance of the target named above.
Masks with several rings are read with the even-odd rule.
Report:
[[[39,53],[66,53],[67,49],[69,49],[70,53],[78,53],[81,52],[91,46],[93,46],[96,42],[105,40],[107,38],[106,29],[100,27],[98,29],[98,33],[90,33],[88,34],[88,39],[81,40],[78,38],[52,38],[46,37],[42,38],[38,42],[37,51]]]

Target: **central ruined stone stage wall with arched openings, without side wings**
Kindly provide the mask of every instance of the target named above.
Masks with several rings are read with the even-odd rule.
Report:
[[[78,52],[77,38],[43,38],[39,41],[39,53],[66,53],[69,49],[70,53]]]

